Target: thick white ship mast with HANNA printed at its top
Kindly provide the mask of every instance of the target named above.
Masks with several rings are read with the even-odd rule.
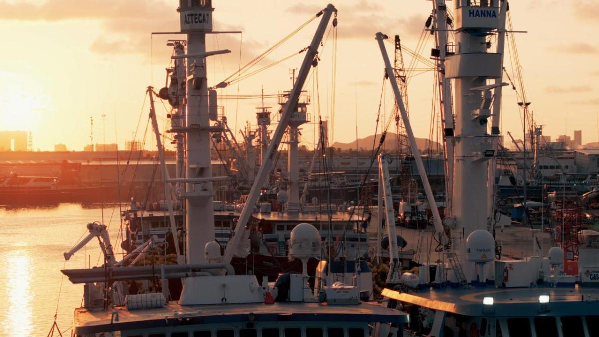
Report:
[[[488,166],[495,156],[494,139],[498,135],[488,133],[487,122],[492,116],[491,106],[499,109],[497,88],[501,88],[503,51],[501,46],[492,46],[487,37],[504,27],[499,2],[483,0],[474,5],[470,0],[453,1],[456,49],[445,61],[446,78],[453,79],[456,115],[452,248],[464,264],[467,282],[476,279],[476,269],[473,263],[465,263],[465,239],[475,230],[489,230]],[[489,85],[489,80],[494,84]]]

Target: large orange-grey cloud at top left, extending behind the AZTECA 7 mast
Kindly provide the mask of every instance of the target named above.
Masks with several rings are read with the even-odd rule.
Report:
[[[150,33],[179,31],[179,16],[176,4],[159,0],[47,0],[42,4],[28,2],[0,1],[0,20],[62,22],[67,20],[93,20],[105,32],[89,46],[91,52],[99,55],[142,55],[150,58]],[[214,22],[214,30],[240,31],[238,26]],[[171,37],[172,38],[172,37]],[[212,39],[218,42],[214,47],[230,49],[239,53],[239,38],[236,35],[207,37],[207,49],[212,47]],[[158,40],[158,39],[156,39]],[[166,38],[164,39],[166,40]],[[168,58],[170,48],[156,48],[155,58]],[[164,47],[164,46],[163,46]],[[242,62],[256,56],[256,50],[264,46],[244,39]],[[230,59],[237,68],[238,58]],[[147,61],[147,60],[146,60]]]

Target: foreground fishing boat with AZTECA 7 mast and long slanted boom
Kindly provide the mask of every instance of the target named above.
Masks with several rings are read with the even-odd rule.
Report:
[[[210,133],[219,132],[219,128],[210,122],[216,119],[210,113],[216,106],[216,92],[209,92],[207,88],[205,58],[228,51],[205,50],[205,36],[216,33],[212,31],[213,10],[210,0],[181,0],[178,9],[181,32],[187,35],[187,40],[184,53],[174,57],[188,66],[186,118],[179,130],[183,130],[185,136],[185,175],[174,181],[184,183],[181,192],[185,200],[184,251],[175,245],[179,263],[129,265],[143,246],[116,261],[106,226],[88,224],[88,236],[66,252],[65,258],[98,237],[105,260],[98,268],[62,270],[72,282],[84,284],[84,306],[75,309],[73,335],[364,337],[397,333],[409,320],[408,315],[367,302],[368,294],[362,293],[359,287],[361,264],[356,264],[351,275],[341,278],[344,282],[332,277],[332,263],[329,268],[326,260],[320,261],[317,275],[308,275],[307,261],[322,256],[322,236],[314,225],[298,224],[290,233],[289,258],[301,260],[302,273],[280,275],[274,284],[264,278],[259,280],[254,274],[235,273],[231,258],[249,233],[247,220],[253,204],[258,201],[271,161],[262,163],[224,254],[214,241],[212,182],[219,178],[211,174],[209,140]],[[313,17],[313,20],[320,18],[320,23],[268,146],[270,154],[281,142],[295,110],[294,102],[316,63],[320,43],[333,17],[332,26],[336,28],[337,10],[333,5]],[[160,151],[159,142],[158,146]],[[172,225],[172,205],[168,200],[167,203]],[[178,242],[175,227],[173,225],[172,234]],[[152,245],[152,239],[146,245]],[[129,293],[137,280],[145,280],[141,282],[141,293]],[[169,280],[181,280],[183,284],[178,300],[169,296]],[[155,290],[144,287],[144,283],[153,284]]]

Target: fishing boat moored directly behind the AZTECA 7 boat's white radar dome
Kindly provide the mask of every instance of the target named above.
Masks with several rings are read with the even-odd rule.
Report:
[[[174,209],[174,219],[179,233],[184,231],[184,213]],[[235,229],[238,212],[214,211],[214,239],[221,246],[226,246],[232,231]],[[288,214],[279,212],[253,213],[247,227],[250,228],[249,254],[243,257],[234,256],[231,264],[236,273],[246,273],[251,270],[258,278],[267,276],[274,281],[281,272],[301,272],[301,263],[289,261],[289,238],[296,225],[309,222],[322,233],[323,245],[332,246],[333,258],[343,257],[355,260],[357,257],[368,255],[367,228],[364,221],[349,219],[349,214],[332,213],[331,221],[326,213],[302,212]],[[167,209],[143,210],[130,207],[123,211],[125,224],[125,240],[121,247],[127,253],[143,246],[153,239],[161,244],[165,254],[175,254],[174,236],[171,234],[170,212]],[[179,239],[179,247],[183,249],[183,241]],[[308,261],[308,270],[314,272],[318,260]],[[365,266],[362,273],[369,271]]]

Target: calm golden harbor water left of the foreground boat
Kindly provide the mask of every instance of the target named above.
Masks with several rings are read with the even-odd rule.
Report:
[[[57,303],[60,330],[71,335],[83,285],[62,279],[60,269],[83,268],[88,261],[95,266],[100,249],[92,240],[66,263],[63,252],[87,234],[86,224],[93,221],[102,221],[99,204],[0,205],[0,336],[46,336]],[[104,207],[104,223],[114,241],[120,227],[118,205]]]

